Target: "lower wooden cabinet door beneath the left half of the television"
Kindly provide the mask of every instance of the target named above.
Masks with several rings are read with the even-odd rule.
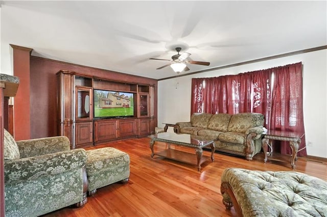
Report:
[[[95,142],[118,138],[118,127],[116,120],[95,121]]]

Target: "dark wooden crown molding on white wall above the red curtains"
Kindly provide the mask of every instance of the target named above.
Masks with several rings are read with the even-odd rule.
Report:
[[[249,61],[245,61],[245,62],[241,62],[241,63],[234,63],[234,64],[230,64],[230,65],[226,65],[226,66],[219,66],[219,67],[214,67],[214,68],[210,68],[210,69],[204,69],[204,70],[190,72],[190,73],[186,73],[186,74],[178,74],[178,77],[188,76],[188,75],[198,74],[198,73],[203,73],[203,72],[208,72],[208,71],[214,71],[214,70],[219,70],[219,69],[225,69],[225,68],[230,68],[230,67],[235,67],[235,66],[241,66],[241,65],[246,65],[246,64],[250,64],[250,63],[263,62],[263,61],[278,59],[278,58],[282,58],[282,57],[289,57],[289,56],[299,55],[301,53],[313,52],[313,51],[323,50],[323,49],[327,49],[327,45],[323,45],[320,47],[313,47],[313,48],[304,49],[304,50],[293,51],[293,52],[288,52],[288,53],[283,53],[280,55],[274,55],[274,56],[259,58],[259,59],[255,59],[255,60],[249,60]],[[159,80],[167,80],[167,79],[171,79],[171,78],[175,78],[175,77],[176,76],[160,78],[160,79],[158,79],[158,81]]]

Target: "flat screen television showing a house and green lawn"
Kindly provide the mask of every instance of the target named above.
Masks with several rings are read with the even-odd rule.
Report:
[[[95,118],[134,116],[134,93],[94,89]]]

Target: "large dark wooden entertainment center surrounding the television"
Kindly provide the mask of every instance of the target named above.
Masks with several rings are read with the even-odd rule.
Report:
[[[126,83],[60,70],[57,72],[58,132],[69,138],[72,148],[154,134],[155,88],[153,84]],[[133,94],[133,116],[95,118],[94,110],[99,106],[94,105],[96,89]]]

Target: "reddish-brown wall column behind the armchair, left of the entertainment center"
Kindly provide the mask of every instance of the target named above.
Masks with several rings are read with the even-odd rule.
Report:
[[[30,56],[33,49],[10,45],[13,48],[14,75],[20,84],[14,99],[14,138],[31,139]]]

